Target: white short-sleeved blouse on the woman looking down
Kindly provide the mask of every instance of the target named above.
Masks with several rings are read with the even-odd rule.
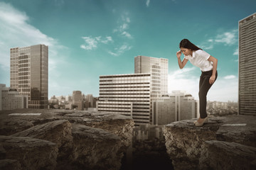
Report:
[[[203,50],[193,51],[193,56],[185,55],[186,60],[189,60],[194,66],[199,67],[203,72],[213,69],[213,63],[208,61],[209,57],[210,55]]]

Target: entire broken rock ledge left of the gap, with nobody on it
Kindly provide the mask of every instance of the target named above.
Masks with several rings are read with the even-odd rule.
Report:
[[[31,170],[119,169],[134,128],[124,115],[41,109],[1,111],[0,125],[0,168]]]

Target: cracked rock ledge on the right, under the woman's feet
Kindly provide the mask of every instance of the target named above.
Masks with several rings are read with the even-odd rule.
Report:
[[[165,127],[166,149],[174,169],[256,169],[255,116],[213,117],[203,127],[193,121]]]

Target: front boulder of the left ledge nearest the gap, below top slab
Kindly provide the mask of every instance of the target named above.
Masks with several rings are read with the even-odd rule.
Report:
[[[75,164],[85,169],[119,169],[122,161],[120,137],[101,129],[73,124]]]

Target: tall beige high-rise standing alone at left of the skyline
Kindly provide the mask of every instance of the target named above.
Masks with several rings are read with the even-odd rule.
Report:
[[[10,49],[10,86],[28,95],[28,108],[48,108],[48,46]]]

